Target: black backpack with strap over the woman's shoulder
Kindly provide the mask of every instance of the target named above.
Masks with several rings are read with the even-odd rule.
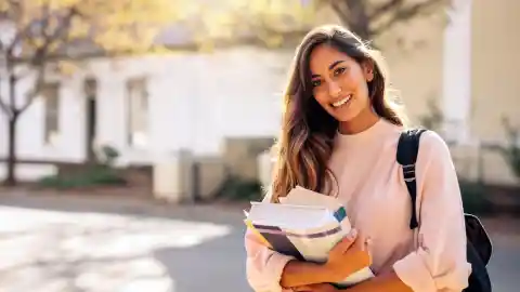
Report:
[[[410,228],[418,227],[416,214],[417,187],[415,181],[415,162],[419,151],[420,135],[424,129],[406,130],[401,133],[398,145],[396,160],[403,168],[404,182],[412,199],[412,217]],[[486,265],[490,262],[493,247],[480,220],[472,214],[464,214],[467,237],[467,258],[471,264],[469,284],[464,292],[491,292],[492,284]]]

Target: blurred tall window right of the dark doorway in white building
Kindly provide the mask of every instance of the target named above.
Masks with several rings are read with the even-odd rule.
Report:
[[[148,93],[146,79],[134,78],[127,81],[128,102],[128,144],[142,148],[148,143]]]

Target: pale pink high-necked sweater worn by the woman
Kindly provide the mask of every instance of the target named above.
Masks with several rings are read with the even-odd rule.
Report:
[[[419,235],[408,227],[411,200],[395,161],[400,127],[380,119],[354,135],[338,134],[329,167],[352,225],[372,238],[375,274],[394,269],[414,292],[460,292],[471,270],[460,193],[448,148],[434,132],[422,134],[416,164]],[[420,239],[420,240],[418,240]],[[291,260],[246,233],[247,279],[256,292],[280,286]]]

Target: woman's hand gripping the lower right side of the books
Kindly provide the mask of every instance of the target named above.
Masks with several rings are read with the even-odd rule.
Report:
[[[330,282],[344,280],[353,273],[370,265],[370,254],[366,248],[367,241],[358,236],[352,228],[350,234],[338,242],[328,253],[328,260],[324,264]]]

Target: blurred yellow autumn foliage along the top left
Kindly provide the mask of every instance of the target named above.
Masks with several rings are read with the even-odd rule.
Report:
[[[287,30],[312,23],[313,6],[301,0],[0,0],[2,22],[14,27],[21,55],[36,52],[75,58],[86,50],[141,53],[157,36],[182,23],[192,41],[245,35],[277,45]],[[157,49],[157,48],[155,48]]]

